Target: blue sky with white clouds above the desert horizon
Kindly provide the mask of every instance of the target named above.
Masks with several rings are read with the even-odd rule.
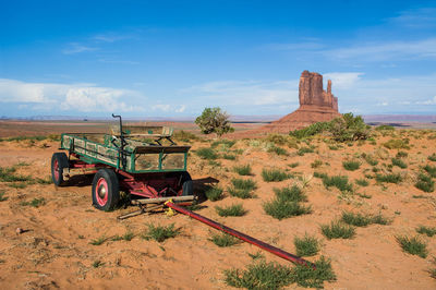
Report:
[[[0,116],[436,113],[436,1],[0,0]]]

